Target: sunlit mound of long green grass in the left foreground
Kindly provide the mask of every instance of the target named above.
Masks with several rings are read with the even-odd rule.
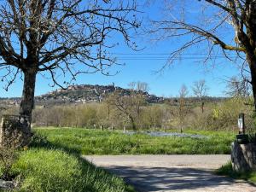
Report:
[[[12,171],[20,175],[18,191],[129,190],[119,177],[57,149],[32,148],[22,152]]]

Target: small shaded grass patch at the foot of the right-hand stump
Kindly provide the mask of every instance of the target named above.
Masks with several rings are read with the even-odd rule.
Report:
[[[256,184],[256,172],[236,172],[232,169],[231,162],[228,162],[224,166],[218,168],[216,174],[229,176],[236,179],[243,179]]]

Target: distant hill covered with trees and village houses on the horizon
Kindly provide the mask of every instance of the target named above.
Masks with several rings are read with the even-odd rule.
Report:
[[[111,85],[92,85],[92,84],[80,84],[80,85],[71,85],[67,87],[66,90],[58,89],[51,91],[42,96],[36,96],[36,104],[38,105],[54,105],[62,103],[88,103],[88,102],[102,102],[115,90],[119,90],[122,96],[131,95],[130,89],[124,89],[119,86]],[[138,91],[137,91],[138,92]],[[147,91],[140,91],[143,94],[145,100],[148,103],[164,103],[168,102],[170,104],[176,105],[178,102],[178,97],[166,98],[162,96],[154,96],[149,94]],[[224,97],[211,97],[207,96],[205,102],[220,102],[226,98]],[[194,103],[200,102],[199,98],[188,97],[186,98],[187,102]],[[9,102],[12,104],[19,104],[20,98],[0,98],[0,102]]]

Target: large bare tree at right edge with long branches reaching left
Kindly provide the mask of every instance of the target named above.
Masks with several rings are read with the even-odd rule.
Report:
[[[165,18],[153,20],[154,28],[150,32],[157,34],[158,39],[183,39],[180,41],[183,44],[170,55],[170,61],[175,61],[179,55],[191,54],[193,50],[201,50],[203,47],[203,51],[207,51],[203,61],[216,61],[216,58],[223,54],[228,60],[241,63],[241,73],[250,74],[247,81],[252,84],[256,109],[256,1],[164,2]],[[202,11],[198,10],[200,7]]]

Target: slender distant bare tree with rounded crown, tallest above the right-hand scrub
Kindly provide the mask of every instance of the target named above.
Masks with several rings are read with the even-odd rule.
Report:
[[[207,96],[207,84],[206,81],[204,79],[200,80],[200,81],[195,81],[194,85],[192,87],[192,90],[195,94],[196,97],[198,97],[200,99],[201,102],[201,113],[204,113],[204,97]]]

